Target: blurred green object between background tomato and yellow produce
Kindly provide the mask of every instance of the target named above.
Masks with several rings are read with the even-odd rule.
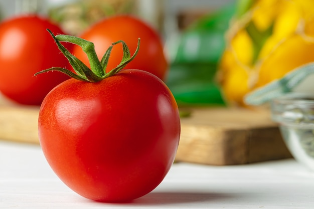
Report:
[[[229,4],[181,34],[166,81],[179,105],[225,105],[215,77],[235,8]]]

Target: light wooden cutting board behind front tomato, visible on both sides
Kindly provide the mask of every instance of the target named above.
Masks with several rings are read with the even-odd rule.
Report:
[[[291,157],[268,109],[191,108],[181,119],[177,161],[234,165]],[[0,95],[0,139],[39,144],[39,107]]]

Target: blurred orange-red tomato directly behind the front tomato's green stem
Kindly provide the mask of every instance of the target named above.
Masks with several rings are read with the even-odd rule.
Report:
[[[81,38],[95,44],[96,54],[101,58],[113,42],[123,40],[130,51],[135,51],[140,38],[140,51],[127,65],[127,69],[140,69],[165,80],[168,62],[159,34],[143,21],[130,16],[115,16],[104,19],[91,26],[80,35]],[[112,49],[106,72],[115,68],[121,61],[122,46]],[[73,54],[89,66],[86,54],[79,46],[74,46]]]

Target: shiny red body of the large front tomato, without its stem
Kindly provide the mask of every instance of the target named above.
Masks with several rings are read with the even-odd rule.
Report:
[[[43,152],[60,179],[104,202],[130,201],[158,186],[180,138],[172,93],[141,70],[98,83],[63,82],[44,99],[38,125]]]

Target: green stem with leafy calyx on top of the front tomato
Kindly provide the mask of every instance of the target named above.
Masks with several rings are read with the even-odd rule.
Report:
[[[137,42],[137,48],[131,56],[130,50],[126,43],[122,40],[117,41],[112,43],[112,45],[107,49],[105,54],[103,55],[102,59],[99,61],[96,52],[95,52],[95,47],[92,42],[89,42],[87,40],[81,39],[76,36],[70,36],[70,35],[57,35],[55,36],[49,29],[47,31],[50,33],[52,38],[55,40],[59,50],[62,52],[62,54],[69,60],[69,63],[73,67],[75,73],[72,71],[66,69],[66,68],[61,68],[61,67],[52,67],[46,70],[42,70],[38,73],[35,74],[35,76],[49,72],[49,71],[60,71],[71,78],[80,80],[80,81],[85,81],[85,82],[99,82],[107,77],[110,77],[116,73],[118,73],[120,70],[122,70],[129,62],[131,62],[135,56],[138,53],[139,50],[139,43],[140,39],[138,38]],[[74,55],[72,55],[69,50],[67,50],[60,42],[68,42],[72,44],[76,44],[82,48],[84,53],[87,55],[90,68],[87,67],[81,60],[76,58]],[[111,54],[112,47],[116,44],[122,44],[123,48],[123,56],[121,59],[121,62],[119,65],[117,65],[114,69],[106,73],[106,67],[108,64],[108,60]]]

